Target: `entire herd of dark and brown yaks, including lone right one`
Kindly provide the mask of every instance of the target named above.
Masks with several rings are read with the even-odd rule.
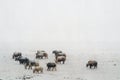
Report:
[[[66,61],[67,56],[62,51],[54,50],[52,53],[55,55],[55,62],[48,62],[46,64],[47,71],[53,71],[53,70],[56,71],[57,64],[58,63],[65,64],[65,61]],[[12,58],[15,61],[18,61],[20,64],[23,64],[25,69],[32,69],[34,67],[33,73],[39,73],[39,72],[43,73],[43,67],[41,67],[38,62],[32,61],[27,57],[23,57],[21,52],[14,52],[12,55]],[[48,59],[48,54],[44,50],[41,50],[41,51],[37,50],[35,54],[35,58],[36,59],[43,59],[43,58]],[[97,61],[89,60],[86,64],[86,67],[89,67],[90,69],[92,68],[95,69],[97,68],[97,65],[98,65]]]

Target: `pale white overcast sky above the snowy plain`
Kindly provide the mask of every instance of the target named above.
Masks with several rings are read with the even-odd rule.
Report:
[[[41,43],[119,50],[120,0],[0,0],[0,48]]]

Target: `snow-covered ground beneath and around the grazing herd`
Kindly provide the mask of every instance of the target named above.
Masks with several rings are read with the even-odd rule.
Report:
[[[47,51],[46,51],[47,52]],[[12,59],[12,53],[0,54],[0,80],[120,80],[120,54],[115,53],[74,53],[67,52],[65,64],[57,64],[57,71],[47,71],[46,63],[54,61],[54,55],[48,51],[49,59],[36,60],[44,72],[33,74],[23,65]],[[23,53],[23,56],[35,60],[35,53]],[[97,69],[86,68],[88,60],[98,61]]]

